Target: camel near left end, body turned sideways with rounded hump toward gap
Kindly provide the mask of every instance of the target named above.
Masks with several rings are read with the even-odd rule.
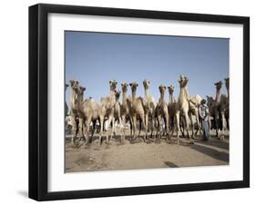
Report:
[[[95,132],[95,129],[92,129],[92,134],[89,136],[90,125],[91,123],[95,124],[99,120],[99,105],[97,102],[89,98],[84,101],[84,92],[86,91],[85,87],[79,86],[77,89],[77,108],[79,114],[79,132],[84,131],[86,137],[86,144],[88,144]],[[86,123],[86,126],[85,126]],[[80,133],[81,135],[81,133]]]

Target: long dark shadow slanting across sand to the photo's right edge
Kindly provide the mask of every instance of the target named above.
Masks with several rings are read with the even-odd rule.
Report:
[[[195,151],[200,151],[201,153],[204,153],[210,156],[211,158],[214,158],[219,161],[225,161],[225,162],[230,161],[230,154],[224,151],[217,151],[209,147],[201,146],[200,144],[192,144],[190,145],[190,149],[193,149]]]

